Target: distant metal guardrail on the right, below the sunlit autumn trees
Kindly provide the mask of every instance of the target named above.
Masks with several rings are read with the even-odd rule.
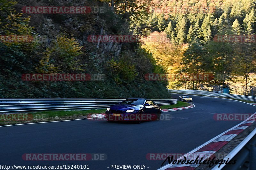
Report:
[[[243,96],[238,94],[226,94],[226,93],[214,93],[204,90],[168,90],[169,92],[175,92],[175,93],[184,93],[184,94],[198,94],[203,96],[213,96],[213,97],[230,97],[234,99],[240,99],[240,100],[249,100],[256,102],[256,97],[252,96]]]

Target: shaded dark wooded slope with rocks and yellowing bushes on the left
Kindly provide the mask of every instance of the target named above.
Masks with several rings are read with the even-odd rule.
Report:
[[[97,0],[0,0],[1,35],[32,35],[39,41],[0,42],[1,98],[169,99],[167,82],[146,81],[162,72],[153,56],[135,43],[93,43],[89,35],[126,35],[129,15]],[[89,6],[104,12],[28,14],[24,6]],[[132,10],[136,15],[136,11]],[[23,81],[27,73],[105,74],[100,81]]]

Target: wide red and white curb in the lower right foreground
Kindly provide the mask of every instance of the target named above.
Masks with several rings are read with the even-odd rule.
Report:
[[[189,157],[192,159],[196,159],[197,156],[199,156],[199,160],[203,157],[203,159],[210,158],[214,153],[219,151],[224,145],[226,145],[230,140],[232,140],[234,137],[236,137],[239,133],[244,131],[247,127],[249,127],[253,122],[255,122],[256,112],[251,115],[249,118],[247,118],[245,121],[239,123],[238,125],[234,126],[233,128],[230,128],[226,130],[225,132],[221,133],[217,137],[212,138],[208,142],[198,146],[194,150],[188,152],[187,154],[181,156],[179,159],[183,159],[183,157]],[[254,119],[254,120],[250,120]],[[194,158],[195,157],[195,158]],[[192,160],[190,159],[190,160]],[[192,170],[196,169],[200,164],[167,164],[158,170]]]

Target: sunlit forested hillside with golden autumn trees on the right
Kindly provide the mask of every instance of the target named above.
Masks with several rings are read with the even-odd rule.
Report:
[[[230,87],[234,93],[246,95],[250,88],[256,89],[255,0],[154,0],[152,3],[149,15],[131,17],[130,30],[162,37],[156,42],[145,42],[142,47],[152,52],[157,63],[169,73],[170,88]],[[226,35],[227,41],[218,41],[218,35]],[[243,41],[234,41],[230,35],[241,35]],[[177,78],[180,74],[200,73],[222,78],[211,81]]]

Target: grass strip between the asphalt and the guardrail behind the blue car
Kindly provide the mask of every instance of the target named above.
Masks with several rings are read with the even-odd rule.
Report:
[[[177,107],[189,106],[189,103],[178,101],[174,105],[162,105],[162,109],[170,109]],[[0,115],[0,126],[13,125],[13,124],[25,124],[25,123],[36,123],[36,122],[52,122],[72,119],[85,119],[87,115],[105,113],[106,108],[103,109],[91,109],[91,110],[58,110],[58,111],[44,111],[44,112],[30,112],[28,113],[28,119],[20,121],[7,120],[6,115]],[[16,114],[19,115],[19,114]],[[23,115],[20,113],[20,115]],[[2,116],[2,117],[1,117]],[[9,117],[8,117],[9,118]]]

